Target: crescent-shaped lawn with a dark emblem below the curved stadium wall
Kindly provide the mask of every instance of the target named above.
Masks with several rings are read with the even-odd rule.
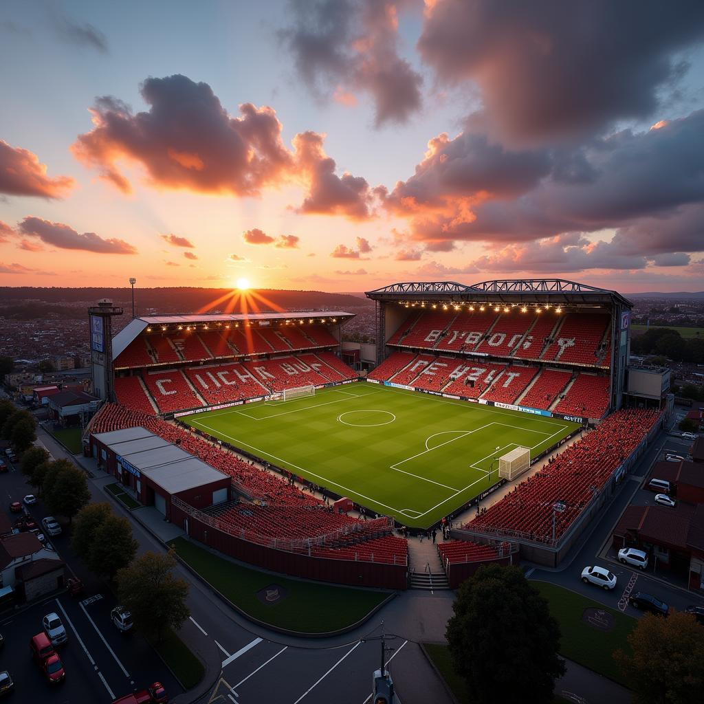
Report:
[[[213,555],[183,538],[170,541],[177,555],[225,598],[247,615],[282,629],[325,634],[362,620],[389,596],[389,591],[367,591],[279,577],[242,567]],[[271,584],[287,591],[275,604],[265,604],[257,592]]]

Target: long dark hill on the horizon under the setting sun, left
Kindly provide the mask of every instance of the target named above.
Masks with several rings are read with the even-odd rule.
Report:
[[[187,287],[161,287],[154,289],[135,289],[134,299],[138,313],[144,315],[151,309],[158,313],[207,313],[208,311],[228,308],[232,289],[196,289]],[[66,317],[67,306],[83,308],[94,305],[99,298],[111,298],[118,306],[132,306],[132,291],[129,288],[38,288],[38,287],[0,287],[0,315],[5,317],[25,318],[32,311],[31,317],[45,304],[58,317]],[[263,300],[265,299],[265,300]],[[235,301],[238,301],[237,294]],[[307,310],[327,309],[345,310],[373,306],[373,301],[353,294],[330,294],[325,291],[287,291],[277,289],[255,289],[249,291],[247,308],[249,310]],[[240,306],[233,312],[239,312]],[[13,313],[15,315],[13,315]],[[64,315],[61,315],[63,313]],[[82,313],[84,315],[84,313]]]

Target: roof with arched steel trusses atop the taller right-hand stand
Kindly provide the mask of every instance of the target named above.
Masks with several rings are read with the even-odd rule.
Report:
[[[566,279],[496,279],[467,286],[456,281],[403,282],[367,291],[374,301],[486,301],[487,303],[633,304],[617,291]]]

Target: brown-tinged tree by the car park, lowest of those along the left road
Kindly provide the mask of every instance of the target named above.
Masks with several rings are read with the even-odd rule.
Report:
[[[120,601],[148,638],[161,641],[169,629],[179,629],[189,617],[188,583],[173,573],[176,558],[169,553],[144,553],[118,572]]]

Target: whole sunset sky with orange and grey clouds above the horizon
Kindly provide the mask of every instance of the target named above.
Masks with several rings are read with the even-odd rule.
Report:
[[[5,0],[0,285],[704,289],[704,2]]]

